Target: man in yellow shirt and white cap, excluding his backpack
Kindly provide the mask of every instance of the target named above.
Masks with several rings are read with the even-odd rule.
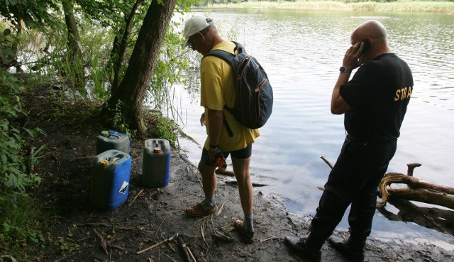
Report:
[[[220,49],[233,53],[235,44],[223,40],[210,18],[195,16],[184,27],[184,47],[192,48],[206,55],[211,50]],[[185,212],[189,217],[202,217],[216,212],[216,158],[225,159],[231,155],[233,172],[238,182],[244,220],[236,220],[233,227],[245,243],[254,241],[253,226],[253,185],[250,181],[249,165],[252,143],[260,136],[258,129],[248,129],[238,123],[224,106],[235,105],[235,85],[231,65],[214,56],[201,60],[201,106],[205,111],[200,123],[206,126],[208,135],[201,153],[199,171],[202,177],[205,199]],[[225,119],[224,119],[225,118]],[[226,121],[233,133],[229,136]]]

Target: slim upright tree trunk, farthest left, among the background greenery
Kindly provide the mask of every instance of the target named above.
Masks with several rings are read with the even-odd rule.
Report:
[[[82,59],[82,50],[80,49],[79,45],[79,29],[77,28],[76,18],[74,18],[74,2],[73,0],[65,0],[62,1],[63,4],[63,11],[65,12],[65,23],[68,30],[67,36],[67,46],[68,52],[70,53],[70,62],[73,64],[77,61],[77,59]],[[80,68],[74,66],[74,68]],[[75,86],[79,90],[84,90],[85,81],[84,81],[84,70],[79,70],[76,72],[76,82],[74,83]]]

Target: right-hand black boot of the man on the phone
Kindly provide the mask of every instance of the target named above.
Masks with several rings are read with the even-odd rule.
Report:
[[[355,241],[354,239],[351,239],[351,237],[348,238],[347,241],[343,241],[343,239],[336,236],[331,236],[328,238],[328,243],[352,262],[364,261],[364,247],[366,241]]]

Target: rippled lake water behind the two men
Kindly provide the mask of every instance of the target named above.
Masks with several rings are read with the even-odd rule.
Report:
[[[414,92],[401,129],[397,153],[387,172],[406,173],[407,163],[421,163],[416,178],[454,186],[454,23],[440,13],[365,13],[228,9],[193,11],[214,19],[224,39],[243,43],[258,58],[272,84],[275,104],[262,134],[253,145],[253,181],[269,186],[255,191],[283,197],[289,212],[312,216],[330,168],[336,162],[345,131],[343,115],[330,112],[331,91],[338,77],[350,33],[358,24],[377,19],[388,29],[389,46],[414,74]],[[189,15],[190,16],[190,15]],[[182,112],[179,138],[195,164],[205,129],[199,124],[199,58],[188,86],[175,87]],[[418,203],[420,206],[426,204]],[[387,204],[388,212],[399,209]],[[348,229],[346,216],[338,229]],[[411,222],[375,215],[372,236],[429,242],[454,250],[454,239]]]

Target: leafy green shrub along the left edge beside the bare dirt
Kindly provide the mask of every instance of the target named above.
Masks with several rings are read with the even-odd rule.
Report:
[[[18,94],[21,82],[5,70],[0,70],[0,253],[33,246],[43,242],[40,204],[26,194],[38,185],[40,177],[27,172],[28,165],[38,160],[39,148],[33,155],[23,153],[26,136],[35,136],[40,130],[19,127],[13,121],[26,113]],[[25,252],[26,253],[26,252]]]

